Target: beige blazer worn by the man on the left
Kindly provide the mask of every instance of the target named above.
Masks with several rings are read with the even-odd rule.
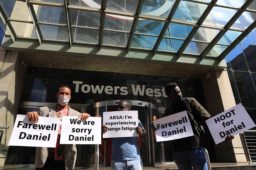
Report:
[[[69,106],[68,106],[69,107]],[[45,106],[39,108],[39,116],[44,117],[57,117],[55,116],[57,109],[57,104],[54,106]],[[75,111],[69,107],[68,116],[79,116],[81,113]],[[35,152],[35,167],[42,168],[46,162],[48,156],[49,148],[37,147]],[[75,168],[76,162],[76,146],[75,145],[65,145],[65,166],[67,170],[72,170]]]

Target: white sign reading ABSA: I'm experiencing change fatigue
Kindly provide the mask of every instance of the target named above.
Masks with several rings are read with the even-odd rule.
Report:
[[[139,136],[138,120],[138,111],[103,112],[103,124],[108,127],[103,138]]]

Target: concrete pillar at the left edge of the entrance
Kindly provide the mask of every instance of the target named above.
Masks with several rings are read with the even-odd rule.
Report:
[[[0,167],[5,163],[26,72],[27,64],[18,52],[0,48],[0,126],[9,126],[0,145]]]

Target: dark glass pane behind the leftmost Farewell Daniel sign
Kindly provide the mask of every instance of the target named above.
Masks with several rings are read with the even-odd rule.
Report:
[[[39,108],[19,107],[17,114],[26,115],[27,112],[39,112]],[[34,164],[36,147],[9,146],[5,165]]]

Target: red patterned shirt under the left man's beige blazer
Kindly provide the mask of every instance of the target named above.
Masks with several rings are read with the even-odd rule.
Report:
[[[61,132],[61,124],[62,124],[62,116],[68,116],[68,109],[69,108],[63,108],[61,109],[60,107],[57,106],[57,110],[55,113],[55,116],[57,116],[57,118],[60,118],[60,124],[59,124],[59,131],[58,131],[58,137],[57,137],[57,143],[56,143],[56,147],[55,148],[50,148],[49,153],[48,153],[48,157],[49,158],[54,158],[54,160],[64,160],[64,146],[65,145],[60,145],[59,141],[60,141],[60,132]]]

